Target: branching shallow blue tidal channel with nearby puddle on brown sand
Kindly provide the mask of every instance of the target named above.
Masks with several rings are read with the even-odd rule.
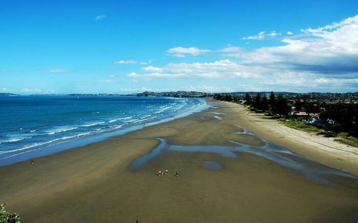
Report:
[[[243,132],[232,133],[232,134],[254,135],[253,133],[248,132],[246,130],[243,130]],[[245,152],[245,153],[251,153],[264,157],[282,166],[298,170],[303,175],[305,175],[308,180],[314,181],[316,183],[328,184],[332,186],[335,185],[333,182],[325,178],[325,176],[328,175],[358,179],[356,176],[349,174],[348,172],[344,172],[338,169],[334,169],[316,163],[310,159],[307,159],[304,156],[297,155],[293,152],[290,152],[289,150],[287,150],[282,146],[276,145],[262,138],[260,139],[263,140],[264,142],[263,146],[253,146],[233,140],[229,140],[229,142],[231,142],[233,146],[221,146],[221,145],[185,146],[185,145],[169,145],[167,144],[165,139],[158,138],[158,140],[160,140],[161,143],[158,146],[156,146],[150,153],[140,156],[135,161],[133,161],[130,166],[130,170],[139,169],[146,162],[148,162],[155,156],[160,155],[164,150],[180,151],[180,152],[187,152],[187,153],[197,153],[197,152],[215,153],[217,155],[227,158],[237,158],[238,157],[237,152]],[[216,164],[213,163],[203,164],[204,167],[208,167],[208,168],[210,168],[210,166],[212,167],[213,165]]]

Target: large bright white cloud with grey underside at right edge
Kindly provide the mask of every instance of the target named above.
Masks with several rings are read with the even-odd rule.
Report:
[[[306,38],[261,47],[242,55],[245,64],[286,66],[319,73],[358,72],[358,15],[318,29],[302,30]]]

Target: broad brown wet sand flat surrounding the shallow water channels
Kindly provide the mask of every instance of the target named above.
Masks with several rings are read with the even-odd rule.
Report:
[[[136,158],[159,145],[155,138],[185,146],[235,146],[228,140],[263,145],[259,137],[230,134],[239,127],[309,157],[309,145],[270,136],[244,116],[243,107],[208,103],[217,108],[37,158],[33,165],[27,161],[0,167],[1,202],[20,213],[21,222],[358,221],[358,180],[327,176],[334,186],[317,183],[255,154],[235,152],[238,157],[231,158],[164,150],[129,170]],[[310,158],[356,173],[355,163],[333,162],[324,150],[314,150],[319,152]],[[222,168],[205,168],[206,161]],[[156,176],[165,169],[168,175]]]

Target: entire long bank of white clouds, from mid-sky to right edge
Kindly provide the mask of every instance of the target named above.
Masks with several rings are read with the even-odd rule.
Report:
[[[244,39],[262,40],[281,35],[276,31]],[[358,88],[358,15],[327,26],[302,29],[292,36],[287,32],[284,45],[260,47],[246,51],[228,46],[215,51],[231,58],[208,63],[169,63],[146,66],[128,77],[152,79],[255,79],[259,86],[294,87],[295,89],[326,88],[334,90]],[[196,47],[175,47],[168,54],[175,57],[197,56],[212,52]]]

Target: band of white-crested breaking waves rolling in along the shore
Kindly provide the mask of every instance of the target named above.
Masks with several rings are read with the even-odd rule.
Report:
[[[141,123],[144,123],[144,122],[146,122],[146,125],[151,126],[151,125],[155,125],[156,123],[161,123],[161,122],[172,120],[172,119],[175,119],[178,117],[183,117],[183,116],[191,114],[197,110],[201,110],[199,108],[202,106],[200,106],[200,104],[198,104],[198,106],[192,107],[192,108],[194,108],[193,111],[186,111],[186,110],[191,110],[190,107],[192,105],[191,103],[188,103],[188,105],[191,104],[190,106],[188,106],[189,109],[183,109],[183,107],[187,105],[187,103],[186,103],[187,101],[188,101],[187,99],[180,100],[180,101],[176,101],[175,103],[170,103],[170,104],[166,103],[166,105],[163,105],[163,104],[161,105],[160,103],[156,103],[156,105],[151,105],[151,106],[148,106],[147,108],[144,107],[144,108],[141,108],[140,110],[136,110],[136,111],[132,110],[131,112],[127,111],[127,112],[123,113],[123,115],[120,115],[121,113],[118,113],[119,116],[122,116],[121,118],[108,117],[108,119],[103,122],[99,122],[99,120],[97,122],[95,122],[96,120],[92,120],[92,121],[89,120],[87,123],[82,122],[79,125],[75,124],[74,126],[72,126],[71,124],[69,124],[68,126],[62,126],[62,127],[61,126],[55,126],[55,127],[52,126],[50,128],[48,127],[47,130],[46,129],[45,130],[38,129],[39,127],[36,127],[37,128],[37,130],[36,130],[33,127],[32,130],[27,129],[26,132],[27,132],[28,136],[32,136],[33,139],[36,139],[36,141],[25,140],[24,138],[27,135],[24,135],[24,134],[19,134],[18,136],[14,135],[12,137],[7,136],[7,141],[15,141],[16,142],[16,141],[24,140],[25,143],[21,142],[21,145],[19,145],[19,146],[15,146],[15,145],[17,145],[17,143],[13,143],[14,146],[10,146],[12,144],[9,144],[9,148],[6,148],[6,149],[8,149],[7,151],[5,150],[5,148],[3,148],[3,151],[0,150],[0,154],[3,154],[3,155],[1,155],[2,158],[0,158],[0,159],[6,159],[6,158],[9,158],[9,157],[12,157],[15,155],[29,153],[34,150],[40,150],[41,148],[46,148],[47,146],[53,146],[54,144],[63,143],[66,141],[77,140],[77,138],[91,137],[90,135],[94,135],[94,134],[97,135],[98,133],[99,134],[103,133],[104,136],[111,135],[111,134],[118,134],[116,129],[120,129],[120,128],[123,128],[124,130],[119,130],[119,133],[124,134],[124,132],[130,132],[130,131],[138,129],[137,127],[140,127]],[[159,106],[161,106],[161,107],[159,107]],[[186,107],[184,107],[184,108],[186,108]],[[166,116],[170,116],[170,114],[167,114],[168,112],[164,112],[168,109],[173,109],[177,112],[181,111],[181,114],[178,114],[174,117],[165,118]],[[172,110],[170,110],[170,113],[171,113],[171,111]],[[140,112],[141,114],[138,114],[137,112]],[[146,112],[148,112],[148,113],[146,113]],[[132,115],[132,116],[128,116],[128,115]],[[111,118],[113,118],[113,119],[111,119]],[[151,122],[148,121],[148,120],[154,119],[154,118],[156,118],[156,120],[151,120]],[[110,122],[110,120],[116,120],[118,122],[113,121],[114,123],[108,124],[108,122]],[[121,121],[119,121],[119,120],[121,120]],[[131,123],[133,123],[133,124],[131,124]],[[100,125],[100,124],[103,124],[103,125]],[[115,125],[115,124],[121,124],[121,125]],[[99,126],[96,126],[96,125],[99,125]],[[92,127],[92,126],[96,126],[96,127]],[[111,126],[111,127],[109,127],[109,126]],[[127,126],[130,126],[130,127],[124,128]],[[92,128],[81,128],[81,127],[92,127]],[[87,131],[84,130],[82,133],[77,132],[78,130],[72,131],[72,132],[70,131],[70,130],[74,130],[74,129],[82,129],[82,130],[86,129]],[[69,131],[69,132],[66,132],[66,131]],[[113,133],[110,133],[111,131],[113,131]],[[57,134],[60,132],[66,132],[64,134],[68,135],[68,136],[62,137],[63,135]],[[42,137],[38,137],[40,135],[42,135]],[[78,140],[81,140],[81,139],[78,139]],[[4,140],[3,141],[0,140],[0,143],[4,143]],[[47,153],[47,152],[45,151],[44,153]],[[15,161],[15,162],[17,162],[17,161]]]

